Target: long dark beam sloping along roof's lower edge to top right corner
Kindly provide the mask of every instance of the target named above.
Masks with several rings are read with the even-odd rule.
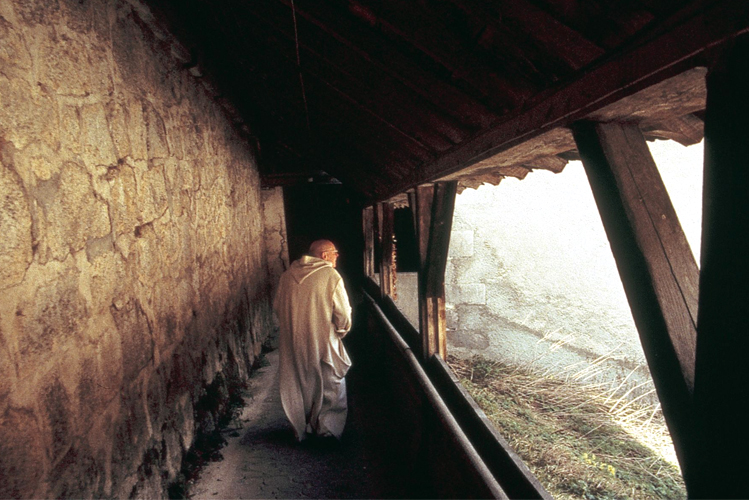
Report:
[[[556,127],[584,116],[654,83],[703,63],[706,52],[749,31],[744,0],[719,0],[666,24],[670,30],[619,51],[577,78],[526,103],[521,111],[426,164],[410,185],[392,185],[385,198],[444,177]]]

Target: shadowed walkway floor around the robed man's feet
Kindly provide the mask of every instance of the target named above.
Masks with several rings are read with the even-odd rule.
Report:
[[[425,498],[426,484],[406,473],[392,439],[397,410],[377,384],[363,349],[366,332],[351,332],[354,366],[343,439],[296,443],[278,392],[278,351],[265,355],[245,393],[241,416],[224,431],[220,458],[206,464],[186,491],[191,498]],[[402,451],[402,450],[400,450]]]

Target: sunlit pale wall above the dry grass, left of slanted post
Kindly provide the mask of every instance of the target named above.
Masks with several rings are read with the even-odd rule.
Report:
[[[534,176],[551,190],[534,190],[542,180]],[[467,190],[456,202],[446,272],[450,352],[612,388],[627,379],[620,394],[640,384],[631,396],[652,391],[582,167],[505,183]]]

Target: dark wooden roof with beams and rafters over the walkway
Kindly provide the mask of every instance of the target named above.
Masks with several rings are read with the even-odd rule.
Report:
[[[745,0],[148,3],[266,185],[333,177],[362,203],[559,171],[583,118],[697,142],[711,51],[749,27]]]

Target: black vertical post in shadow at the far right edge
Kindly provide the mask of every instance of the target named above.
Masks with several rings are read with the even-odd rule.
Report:
[[[699,474],[690,497],[749,498],[749,37],[707,76],[695,407]]]

